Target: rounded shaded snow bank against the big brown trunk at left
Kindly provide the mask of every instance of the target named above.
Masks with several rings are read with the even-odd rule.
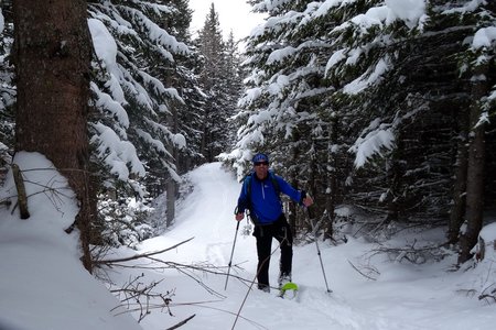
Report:
[[[9,173],[0,200],[0,329],[141,329],[79,261],[74,193],[43,155],[18,153],[31,217],[21,220]]]

